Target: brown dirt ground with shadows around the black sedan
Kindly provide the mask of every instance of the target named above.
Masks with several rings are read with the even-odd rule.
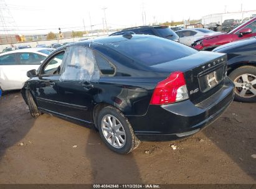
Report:
[[[19,91],[0,99],[0,183],[254,184],[253,154],[256,103],[232,103],[182,141],[143,142],[118,155],[96,131],[49,114],[31,118]]]

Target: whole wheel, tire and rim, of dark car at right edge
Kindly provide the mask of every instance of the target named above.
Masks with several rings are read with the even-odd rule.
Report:
[[[235,83],[235,100],[243,103],[256,102],[256,67],[239,67],[229,74]]]

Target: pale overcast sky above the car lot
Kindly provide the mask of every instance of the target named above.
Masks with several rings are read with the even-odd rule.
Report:
[[[65,30],[90,30],[89,12],[93,29],[102,27],[105,10],[107,24],[111,27],[130,27],[142,25],[143,9],[146,13],[147,24],[152,22],[183,21],[187,19],[201,19],[208,14],[256,10],[256,1],[252,0],[5,0],[12,17],[19,29],[27,29],[22,33],[58,32],[58,28]],[[1,5],[2,6],[2,5]],[[226,6],[226,7],[225,7]],[[68,28],[69,27],[69,28]],[[73,28],[71,28],[73,27]],[[30,31],[31,29],[47,29]]]

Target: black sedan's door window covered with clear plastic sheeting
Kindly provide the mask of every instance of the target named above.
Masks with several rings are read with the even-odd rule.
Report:
[[[100,71],[92,49],[82,46],[69,47],[60,80],[98,81],[99,79]]]

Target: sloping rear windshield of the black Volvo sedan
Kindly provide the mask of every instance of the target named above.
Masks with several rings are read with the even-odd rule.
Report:
[[[187,57],[197,52],[194,48],[159,37],[123,40],[107,46],[148,66]]]

